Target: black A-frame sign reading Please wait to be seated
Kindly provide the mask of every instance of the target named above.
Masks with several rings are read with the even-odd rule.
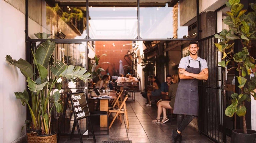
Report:
[[[96,142],[95,135],[94,135],[94,132],[93,132],[93,127],[92,127],[91,120],[90,120],[90,113],[89,113],[89,109],[88,109],[88,105],[87,105],[87,101],[86,101],[86,97],[84,95],[84,92],[75,92],[75,93],[68,93],[67,94],[67,98],[66,98],[66,102],[65,102],[64,110],[63,110],[63,114],[62,114],[62,121],[64,121],[64,119],[65,119],[67,103],[68,103],[69,99],[71,101],[71,105],[72,105],[73,113],[74,113],[74,119],[75,119],[72,131],[71,131],[70,139],[72,139],[72,136],[73,136],[74,130],[75,130],[75,126],[76,126],[78,134],[79,134],[79,138],[80,138],[80,143],[83,143],[80,128],[79,128],[79,124],[78,124],[78,120],[83,119],[83,118],[87,118],[88,121],[89,121],[89,125],[91,126],[91,129],[92,129],[91,133],[92,133],[92,136],[93,136],[93,141]],[[61,125],[59,127],[58,143],[59,143],[59,139],[60,139],[60,135],[61,135],[61,129],[62,129],[63,124],[64,123],[61,123]]]

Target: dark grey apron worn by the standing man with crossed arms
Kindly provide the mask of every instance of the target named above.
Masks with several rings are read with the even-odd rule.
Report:
[[[201,72],[201,64],[200,61],[198,62],[199,68],[193,68],[188,65],[186,71],[199,74]],[[198,116],[198,79],[180,80],[173,113]]]

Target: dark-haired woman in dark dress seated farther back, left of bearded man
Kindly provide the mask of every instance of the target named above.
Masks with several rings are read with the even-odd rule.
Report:
[[[152,86],[153,89],[152,89],[152,91],[149,90],[147,92],[148,101],[151,101],[151,96],[160,96],[161,95],[161,91],[160,91],[161,84],[160,84],[158,78],[156,76],[154,76],[152,81],[153,81],[153,86]],[[146,104],[146,106],[151,106],[151,102]]]

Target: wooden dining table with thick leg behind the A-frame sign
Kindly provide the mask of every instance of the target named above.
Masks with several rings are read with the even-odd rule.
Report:
[[[116,99],[116,94],[114,91],[109,91],[109,92],[104,92],[104,93],[100,93],[100,96],[96,96],[95,92],[92,91],[89,95],[88,100],[92,101],[92,100],[100,100],[100,111],[108,111],[108,101],[112,100],[112,99]],[[108,95],[108,97],[103,97]],[[91,109],[93,110],[93,108]],[[101,115],[100,116],[100,127],[107,127],[107,121],[108,121],[108,116],[106,115]]]

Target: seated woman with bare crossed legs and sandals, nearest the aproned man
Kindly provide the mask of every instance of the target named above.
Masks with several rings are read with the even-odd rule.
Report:
[[[153,120],[152,122],[165,123],[165,122],[169,121],[169,119],[167,118],[167,115],[166,115],[166,109],[172,109],[174,107],[176,91],[177,91],[178,84],[179,84],[178,83],[179,76],[177,74],[173,75],[171,81],[174,83],[169,86],[168,96],[169,96],[169,98],[171,98],[171,101],[162,101],[158,104],[157,118],[155,120]],[[160,122],[160,116],[161,116],[162,112],[163,112],[163,119]]]

